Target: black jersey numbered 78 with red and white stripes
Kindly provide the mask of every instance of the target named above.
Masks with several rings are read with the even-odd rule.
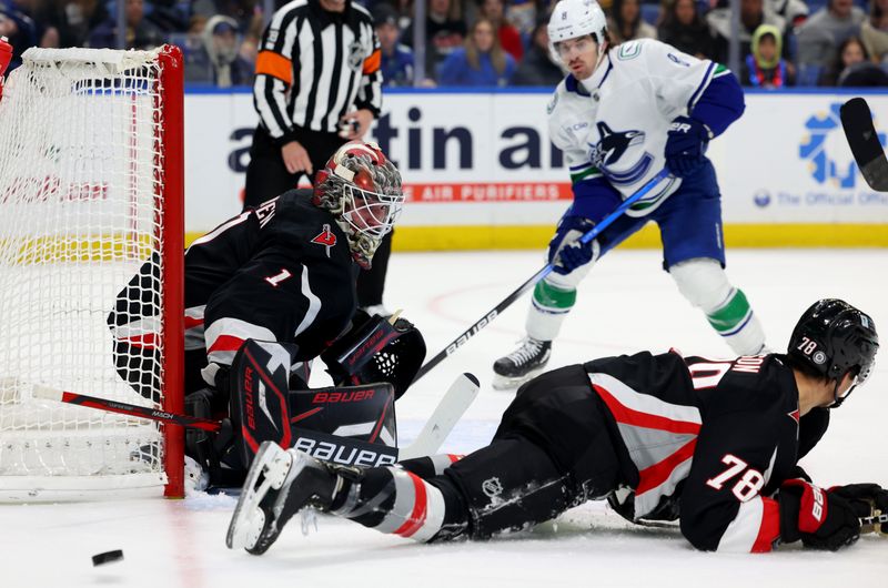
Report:
[[[638,473],[636,519],[677,501],[695,547],[770,550],[779,538],[770,497],[799,455],[798,388],[784,356],[640,353],[584,367]]]

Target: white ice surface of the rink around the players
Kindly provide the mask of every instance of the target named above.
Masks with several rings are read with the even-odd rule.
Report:
[[[404,316],[422,330],[431,357],[542,263],[538,252],[395,254],[385,303],[393,311],[404,308]],[[731,251],[728,274],[748,295],[774,348],[783,348],[801,312],[826,296],[847,300],[888,330],[888,252]],[[512,398],[490,387],[490,366],[522,336],[526,305],[527,298],[515,303],[398,402],[402,444],[416,435],[464,371],[481,378],[482,392],[444,449],[470,452],[490,439]],[[669,347],[729,355],[660,271],[658,252],[617,251],[584,282],[549,365]],[[803,462],[816,481],[888,486],[887,384],[888,359],[882,357],[871,381],[834,415],[826,438]],[[0,586],[888,586],[888,538],[867,536],[838,554],[791,546],[764,556],[702,554],[677,530],[629,526],[602,504],[585,505],[531,531],[453,545],[416,545],[332,517],[320,517],[317,531],[303,536],[294,520],[266,555],[253,557],[225,548],[233,505],[230,497],[198,495],[0,506]],[[124,560],[92,567],[92,555],[111,549],[123,549]]]

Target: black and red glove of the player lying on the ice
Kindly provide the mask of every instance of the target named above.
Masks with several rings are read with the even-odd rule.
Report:
[[[786,480],[777,495],[780,539],[801,539],[805,547],[836,551],[860,537],[858,510],[840,494],[800,479]]]

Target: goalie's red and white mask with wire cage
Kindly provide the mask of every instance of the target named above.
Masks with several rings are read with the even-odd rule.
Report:
[[[370,268],[404,203],[397,168],[375,143],[351,141],[317,172],[314,185],[314,204],[336,216],[355,262]]]

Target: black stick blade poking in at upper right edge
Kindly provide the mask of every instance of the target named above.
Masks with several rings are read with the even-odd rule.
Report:
[[[872,113],[867,101],[862,98],[850,99],[839,109],[839,116],[864,180],[872,190],[888,192],[888,159],[872,125]]]

